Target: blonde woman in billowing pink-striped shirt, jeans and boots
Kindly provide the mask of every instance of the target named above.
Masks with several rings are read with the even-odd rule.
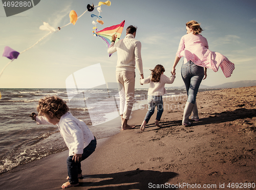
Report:
[[[182,124],[191,125],[188,122],[191,112],[193,112],[191,119],[199,120],[196,97],[201,81],[207,77],[207,68],[217,72],[221,67],[224,75],[230,77],[234,70],[234,64],[224,55],[208,50],[207,40],[200,34],[203,30],[198,22],[195,20],[187,22],[186,30],[187,34],[182,36],[180,40],[172,74],[176,74],[175,68],[180,58],[184,56],[181,75],[187,90],[187,102]]]

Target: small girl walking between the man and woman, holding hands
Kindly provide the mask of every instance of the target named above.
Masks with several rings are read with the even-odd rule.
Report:
[[[163,98],[162,96],[166,94],[166,90],[164,88],[165,83],[172,84],[175,79],[175,75],[172,75],[168,78],[163,74],[164,67],[162,65],[157,65],[155,69],[151,70],[152,74],[144,79],[140,79],[141,84],[150,83],[150,88],[147,92],[147,103],[148,103],[148,111],[140,126],[140,130],[144,131],[146,124],[150,120],[151,116],[154,114],[155,107],[157,107],[157,117],[155,124],[160,128],[159,121],[161,119],[163,113]]]

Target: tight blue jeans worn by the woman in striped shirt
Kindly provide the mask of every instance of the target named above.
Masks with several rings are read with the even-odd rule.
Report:
[[[204,68],[197,66],[192,61],[182,64],[181,76],[187,90],[187,102],[195,104],[198,89],[204,77]]]

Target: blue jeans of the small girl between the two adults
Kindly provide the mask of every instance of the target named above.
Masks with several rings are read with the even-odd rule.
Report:
[[[151,116],[155,112],[155,107],[157,107],[157,117],[156,117],[156,119],[158,121],[160,121],[162,113],[163,113],[163,98],[162,98],[162,96],[150,96],[150,95],[148,95],[147,104],[148,104],[148,111],[146,113],[144,121],[146,121],[146,123],[148,123]]]

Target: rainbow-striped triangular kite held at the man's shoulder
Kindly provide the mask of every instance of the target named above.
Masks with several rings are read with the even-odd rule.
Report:
[[[106,44],[108,44],[108,48],[109,48],[110,44],[111,44],[113,34],[117,35],[116,43],[119,40],[119,38],[121,36],[121,33],[123,31],[124,22],[125,22],[125,20],[123,20],[123,22],[119,25],[115,25],[115,26],[112,26],[112,27],[107,27],[107,28],[104,28],[103,30],[100,30],[100,31],[97,31],[97,29],[96,29],[95,30],[96,31],[96,36],[101,37],[106,42]],[[111,55],[112,54],[110,54],[110,56]]]

